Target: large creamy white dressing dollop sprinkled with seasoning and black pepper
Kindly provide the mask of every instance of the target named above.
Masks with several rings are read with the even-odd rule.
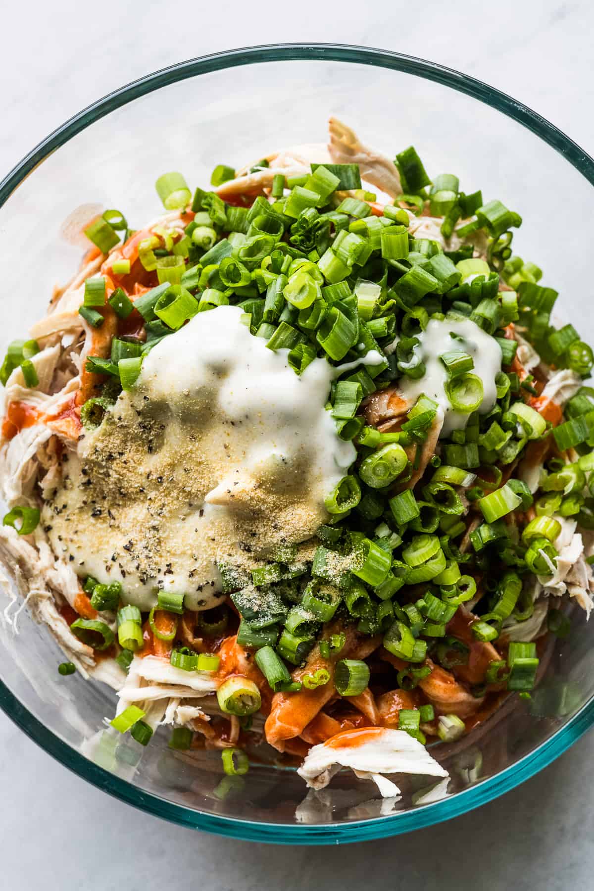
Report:
[[[55,551],[141,609],[159,590],[216,604],[217,561],[248,569],[305,542],[354,462],[325,408],[339,370],[316,358],[297,376],[241,315],[217,307],[161,340],[45,505]]]

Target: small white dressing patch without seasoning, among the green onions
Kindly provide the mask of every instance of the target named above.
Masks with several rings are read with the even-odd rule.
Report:
[[[451,331],[458,337],[452,337]],[[501,347],[497,341],[471,319],[444,319],[443,322],[431,319],[425,331],[421,331],[417,337],[420,342],[414,347],[414,352],[425,363],[426,372],[417,380],[401,378],[398,388],[411,403],[415,403],[422,393],[435,399],[442,407],[445,418],[441,436],[449,436],[452,430],[464,429],[469,417],[468,414],[454,412],[445,395],[444,384],[448,374],[439,356],[448,350],[462,349],[472,356],[475,363],[472,373],[483,381],[484,389],[478,411],[481,414],[490,412],[497,399],[495,375],[501,370]]]

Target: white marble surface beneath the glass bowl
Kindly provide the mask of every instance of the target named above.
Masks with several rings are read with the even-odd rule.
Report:
[[[0,175],[71,114],[145,72],[286,40],[383,46],[442,62],[516,96],[594,151],[594,7],[585,2],[426,0],[414,9],[402,0],[251,7],[31,0],[4,4],[2,19]],[[592,757],[590,734],[520,789],[447,825],[340,850],[288,850],[231,843],[136,812],[85,785],[0,715],[1,884],[17,891],[137,891],[169,882],[209,891],[592,887]]]

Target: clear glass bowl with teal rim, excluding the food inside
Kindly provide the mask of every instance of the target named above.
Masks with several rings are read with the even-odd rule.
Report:
[[[561,290],[560,316],[592,339],[582,282],[594,241],[594,161],[585,152],[509,96],[431,62],[357,47],[284,45],[217,53],[151,74],[82,111],[14,168],[0,184],[2,347],[44,314],[54,283],[76,268],[80,249],[61,237],[74,208],[122,208],[141,225],[158,212],[154,182],[165,170],[206,184],[216,163],[239,166],[275,148],[324,140],[330,113],[388,155],[413,143],[430,172],[453,171],[466,191],[482,188],[485,199],[500,198],[522,214],[514,248],[544,267],[544,282]],[[594,721],[591,629],[575,611],[569,642],[549,647],[532,702],[509,699],[463,743],[432,749],[452,775],[440,800],[419,803],[427,781],[413,780],[404,783],[401,802],[382,806],[370,782],[348,773],[304,802],[294,771],[265,764],[225,789],[216,752],[198,760],[174,753],[159,733],[141,753],[102,732],[114,694],[78,675],[61,678],[50,634],[26,610],[18,621],[18,636],[5,625],[0,632],[6,714],[96,786],[174,822],[235,838],[361,841],[446,820],[532,776]]]

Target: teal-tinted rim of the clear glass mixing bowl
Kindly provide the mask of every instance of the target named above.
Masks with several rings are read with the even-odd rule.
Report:
[[[516,120],[517,123],[558,151],[590,184],[594,185],[594,159],[586,151],[583,151],[577,143],[574,143],[572,139],[537,112],[476,78],[468,77],[454,69],[445,68],[436,62],[389,50],[355,45],[298,43],[252,46],[211,53],[159,69],[107,94],[55,129],[12,168],[12,171],[0,182],[0,208],[25,177],[37,167],[37,164],[84,130],[85,127],[109,114],[110,111],[162,86],[168,86],[187,78],[221,69],[269,61],[350,62],[402,71],[443,86],[449,86]],[[377,819],[326,823],[317,826],[309,824],[290,826],[282,823],[251,822],[202,813],[137,789],[132,783],[119,779],[89,761],[48,730],[45,724],[41,723],[20,703],[2,680],[0,680],[0,708],[31,740],[45,749],[57,761],[84,780],[93,783],[98,789],[109,792],[110,795],[129,805],[134,805],[142,811],[191,829],[250,841],[294,845],[326,845],[387,838],[443,822],[461,813],[467,813],[532,777],[565,752],[594,723],[594,698],[592,698],[549,740],[545,740],[539,747],[533,749],[515,764],[510,764],[508,768],[489,780],[477,783],[476,786],[458,792],[451,798],[444,798],[411,811]]]

